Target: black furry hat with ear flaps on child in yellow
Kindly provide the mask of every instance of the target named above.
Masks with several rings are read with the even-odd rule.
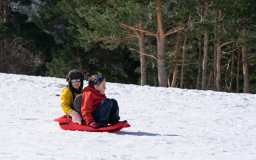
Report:
[[[81,85],[78,89],[78,91],[72,87],[71,80],[72,79],[81,79]],[[82,93],[82,87],[84,87],[84,75],[82,75],[82,72],[79,69],[73,69],[68,72],[68,75],[66,76],[66,81],[68,82],[68,87],[72,92],[75,93]]]

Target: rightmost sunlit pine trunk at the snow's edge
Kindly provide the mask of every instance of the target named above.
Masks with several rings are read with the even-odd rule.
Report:
[[[243,93],[250,93],[250,86],[249,86],[249,75],[248,75],[248,63],[247,63],[247,47],[245,44],[245,35],[246,29],[243,28],[242,30],[242,59],[243,59]]]

